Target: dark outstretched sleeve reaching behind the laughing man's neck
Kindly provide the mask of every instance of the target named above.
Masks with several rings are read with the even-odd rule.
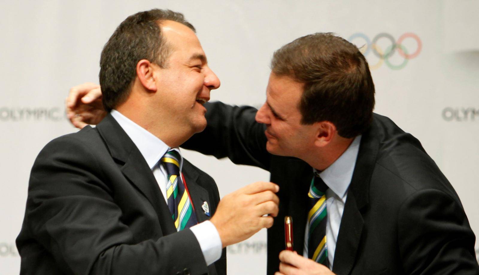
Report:
[[[191,137],[182,148],[269,170],[271,154],[266,151],[266,128],[255,121],[255,108],[221,102],[207,103],[205,107],[205,130]]]

